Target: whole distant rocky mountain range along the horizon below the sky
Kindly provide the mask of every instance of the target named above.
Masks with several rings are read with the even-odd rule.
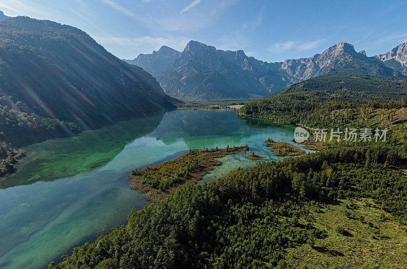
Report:
[[[331,69],[371,75],[407,76],[407,43],[385,54],[366,56],[349,43],[339,43],[309,58],[265,62],[242,50],[223,51],[190,41],[182,52],[161,47],[133,60],[156,77],[170,96],[183,99],[265,96]]]

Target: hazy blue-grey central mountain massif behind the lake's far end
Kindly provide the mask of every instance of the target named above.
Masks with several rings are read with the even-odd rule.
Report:
[[[181,98],[264,96],[273,84],[278,84],[278,88],[287,85],[272,65],[249,57],[242,50],[222,51],[190,41],[157,81],[167,94]],[[268,76],[273,80],[268,80]]]

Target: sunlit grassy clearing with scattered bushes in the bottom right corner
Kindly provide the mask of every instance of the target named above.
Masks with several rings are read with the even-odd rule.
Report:
[[[300,223],[325,230],[327,237],[287,249],[295,268],[403,268],[407,264],[407,226],[377,207],[372,199],[319,204]],[[344,233],[338,233],[341,227]]]

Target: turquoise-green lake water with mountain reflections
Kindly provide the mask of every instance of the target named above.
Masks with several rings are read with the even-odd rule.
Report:
[[[293,126],[239,119],[234,111],[171,111],[28,146],[17,173],[0,181],[0,267],[45,267],[103,227],[126,223],[132,208],[149,204],[129,189],[136,167],[188,149],[244,144],[262,160],[278,160],[264,140],[291,142],[293,133]],[[243,152],[220,159],[199,183],[257,162]]]

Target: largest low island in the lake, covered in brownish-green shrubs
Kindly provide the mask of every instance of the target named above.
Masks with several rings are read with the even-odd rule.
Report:
[[[169,192],[188,183],[195,183],[212,171],[214,166],[221,165],[222,162],[216,158],[248,150],[247,145],[189,150],[178,158],[133,170],[128,176],[130,188],[146,192],[146,197],[151,201],[163,200]]]

